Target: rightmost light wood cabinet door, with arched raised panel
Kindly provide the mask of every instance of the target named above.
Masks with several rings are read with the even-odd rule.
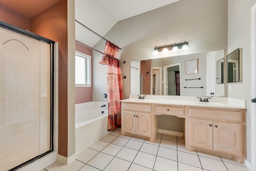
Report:
[[[224,153],[242,155],[242,125],[213,121],[213,149]]]

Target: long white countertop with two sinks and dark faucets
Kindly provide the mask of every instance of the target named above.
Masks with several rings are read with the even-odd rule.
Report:
[[[201,98],[204,99],[207,97],[201,97]],[[145,99],[138,99],[138,96],[136,98],[136,95],[130,95],[129,99],[123,99],[120,101],[132,102],[132,103],[155,103],[155,104],[168,104],[168,105],[190,105],[190,106],[246,109],[245,100],[233,99],[229,97],[212,97],[211,99],[208,99],[208,100],[209,102],[200,102],[199,99],[194,96],[161,96],[161,95],[146,95]]]

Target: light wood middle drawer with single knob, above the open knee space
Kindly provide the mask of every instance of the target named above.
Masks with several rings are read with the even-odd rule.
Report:
[[[174,115],[185,117],[184,106],[155,105],[155,115]]]

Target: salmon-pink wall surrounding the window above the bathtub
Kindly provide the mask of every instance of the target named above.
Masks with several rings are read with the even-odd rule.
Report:
[[[81,44],[76,43],[76,50],[82,52],[84,54],[92,56],[92,50],[83,46]],[[93,60],[93,58],[92,58]],[[91,65],[92,69],[92,65]],[[92,70],[91,70],[92,72]],[[93,80],[92,80],[93,84]],[[92,86],[91,87],[76,87],[76,104],[85,103],[92,101]]]

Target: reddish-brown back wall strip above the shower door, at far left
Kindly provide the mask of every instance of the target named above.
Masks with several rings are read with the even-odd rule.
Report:
[[[0,5],[0,20],[24,30],[30,30],[29,18],[3,5]]]

